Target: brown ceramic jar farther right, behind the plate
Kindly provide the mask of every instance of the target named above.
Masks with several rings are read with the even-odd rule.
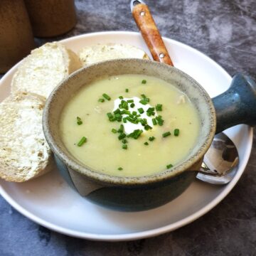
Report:
[[[75,26],[74,0],[25,0],[34,36],[59,36]]]

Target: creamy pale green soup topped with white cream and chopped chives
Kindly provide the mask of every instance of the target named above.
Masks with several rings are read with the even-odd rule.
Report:
[[[114,176],[147,176],[188,156],[199,117],[173,85],[146,75],[95,80],[74,95],[60,117],[70,154],[85,166]]]

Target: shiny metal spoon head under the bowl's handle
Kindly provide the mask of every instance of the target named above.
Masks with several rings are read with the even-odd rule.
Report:
[[[215,185],[229,183],[238,171],[238,149],[223,132],[216,134],[196,178]]]

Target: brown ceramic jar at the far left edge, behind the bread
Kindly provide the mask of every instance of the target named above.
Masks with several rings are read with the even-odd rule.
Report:
[[[0,1],[0,73],[28,55],[35,47],[23,0]]]

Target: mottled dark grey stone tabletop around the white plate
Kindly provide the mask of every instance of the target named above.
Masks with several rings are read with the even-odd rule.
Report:
[[[146,1],[146,0],[145,0]],[[256,79],[255,0],[147,0],[162,36],[201,50],[230,75]],[[137,31],[129,1],[75,1],[78,24],[58,38]],[[256,110],[254,110],[256,111]],[[256,255],[256,129],[250,161],[233,191],[190,225],[156,238],[92,242],[60,235],[23,217],[0,197],[0,255]]]

